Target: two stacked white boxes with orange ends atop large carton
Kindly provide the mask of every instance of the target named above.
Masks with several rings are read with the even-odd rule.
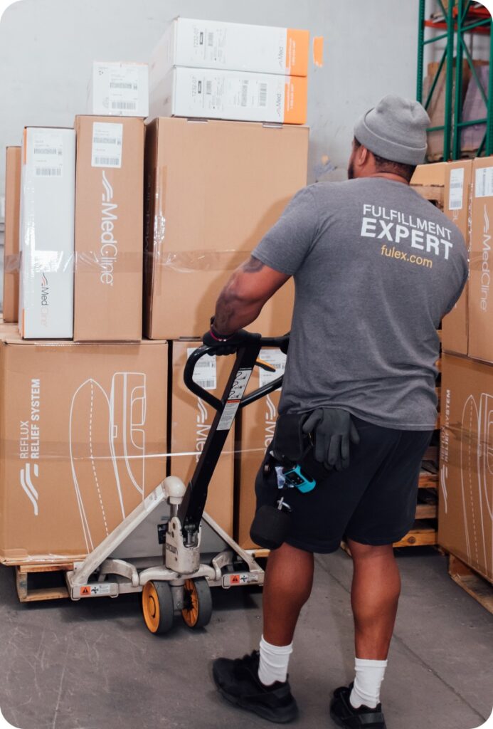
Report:
[[[304,124],[308,31],[173,20],[151,60],[151,116]]]

